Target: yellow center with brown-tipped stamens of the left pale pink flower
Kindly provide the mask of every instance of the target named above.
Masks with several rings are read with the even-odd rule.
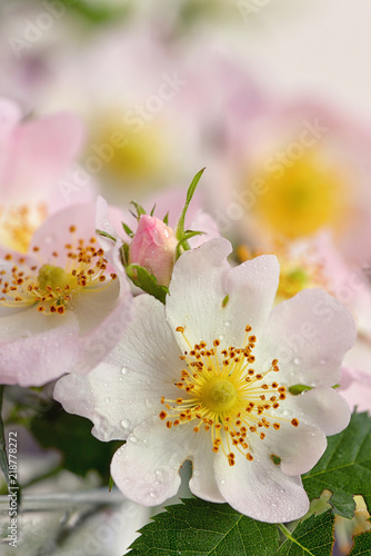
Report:
[[[69,228],[74,236],[76,226]],[[73,238],[71,244],[64,245],[67,264],[62,268],[57,265],[43,264],[29,267],[23,257],[14,261],[10,272],[0,271],[0,307],[27,307],[34,305],[37,310],[44,315],[63,315],[70,308],[76,295],[83,290],[98,288],[106,282],[104,288],[117,278],[110,274],[111,280],[107,280],[107,259],[104,251],[97,248],[96,238],[88,242],[83,239]],[[33,247],[34,254],[40,249]],[[58,258],[58,252],[51,254]],[[12,255],[7,255],[6,260],[11,261]]]

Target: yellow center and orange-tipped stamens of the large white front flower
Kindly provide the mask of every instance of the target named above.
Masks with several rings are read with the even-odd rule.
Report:
[[[275,380],[280,370],[278,360],[273,359],[264,371],[252,368],[257,337],[250,334],[250,326],[245,327],[243,347],[230,346],[222,350],[219,339],[211,348],[204,341],[192,347],[184,327],[178,327],[177,331],[183,335],[190,347],[180,356],[187,368],[176,383],[183,396],[177,399],[162,397],[164,409],[159,414],[160,419],[169,429],[192,424],[193,433],[210,431],[212,450],[218,453],[221,449],[231,466],[235,458],[233,449],[251,461],[254,451],[252,437],[263,440],[267,429],[279,430],[280,421],[287,421],[275,415],[287,398],[287,388]],[[298,427],[299,420],[291,419],[291,425]]]

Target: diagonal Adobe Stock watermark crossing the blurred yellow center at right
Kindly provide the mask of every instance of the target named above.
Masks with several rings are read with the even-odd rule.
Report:
[[[330,130],[318,118],[314,121],[303,120],[302,126],[295,141],[290,142],[284,150],[275,150],[273,155],[265,159],[263,170],[274,180],[281,179],[285,170],[300,160],[308,149],[318,145]],[[257,198],[268,193],[269,189],[264,178],[254,179],[244,189],[233,189],[231,193],[233,201],[229,202],[224,210],[217,209],[212,214],[220,232],[228,232],[235,221],[245,217],[247,211],[253,207]]]

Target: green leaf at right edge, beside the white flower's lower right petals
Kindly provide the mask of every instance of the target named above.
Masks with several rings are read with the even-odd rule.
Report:
[[[325,453],[302,480],[310,499],[330,490],[329,502],[343,517],[353,517],[354,495],[362,495],[371,507],[371,418],[367,413],[354,413],[345,430],[328,438]]]

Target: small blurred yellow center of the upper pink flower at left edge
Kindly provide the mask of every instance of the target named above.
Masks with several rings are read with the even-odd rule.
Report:
[[[0,207],[0,244],[19,252],[27,252],[37,228],[47,218],[43,203]]]

